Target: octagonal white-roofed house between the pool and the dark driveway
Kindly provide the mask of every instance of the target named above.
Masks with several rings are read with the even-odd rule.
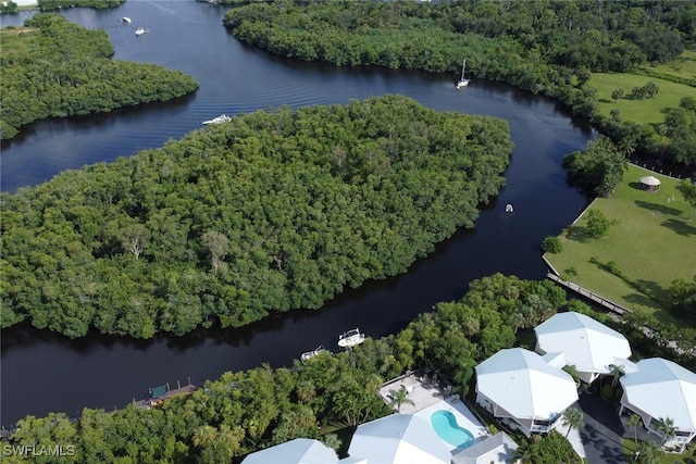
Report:
[[[570,374],[522,348],[500,350],[475,368],[476,402],[525,435],[547,432],[577,401]]]

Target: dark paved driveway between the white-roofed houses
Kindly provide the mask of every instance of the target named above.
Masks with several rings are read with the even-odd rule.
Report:
[[[617,411],[598,394],[581,394],[577,402],[585,426],[580,430],[585,455],[589,464],[623,464],[621,448],[623,425]]]

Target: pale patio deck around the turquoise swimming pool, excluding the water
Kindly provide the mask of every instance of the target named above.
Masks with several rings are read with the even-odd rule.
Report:
[[[380,396],[384,399],[386,404],[389,404],[391,399],[389,398],[390,390],[403,389],[407,391],[407,397],[413,401],[414,404],[403,403],[401,404],[401,414],[413,414],[431,422],[431,415],[435,411],[449,411],[457,418],[457,423],[471,431],[475,441],[480,441],[484,437],[488,436],[486,427],[484,427],[478,419],[473,415],[464,403],[461,402],[458,394],[448,394],[449,390],[447,386],[442,386],[437,381],[433,381],[425,377],[421,377],[414,374],[409,374],[402,377],[398,377],[385,385],[380,389]],[[396,407],[395,407],[395,411]],[[449,451],[457,450],[457,447],[451,446],[443,440]]]

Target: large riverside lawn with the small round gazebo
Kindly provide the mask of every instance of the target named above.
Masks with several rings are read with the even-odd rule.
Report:
[[[661,180],[658,191],[639,188],[638,179],[646,175]],[[631,165],[611,197],[598,198],[591,205],[618,224],[605,237],[584,238],[583,216],[560,236],[562,252],[545,258],[564,278],[614,303],[685,326],[667,311],[672,280],[696,274],[696,213],[688,221],[691,206],[678,185],[676,179]],[[593,256],[605,264],[616,263],[625,280],[591,263]],[[626,280],[638,283],[641,290]]]

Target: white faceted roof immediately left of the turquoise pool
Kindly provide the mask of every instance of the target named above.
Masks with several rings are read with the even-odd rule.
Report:
[[[451,453],[431,424],[411,414],[393,414],[359,425],[348,454],[350,463],[366,464],[450,464],[451,461]]]

